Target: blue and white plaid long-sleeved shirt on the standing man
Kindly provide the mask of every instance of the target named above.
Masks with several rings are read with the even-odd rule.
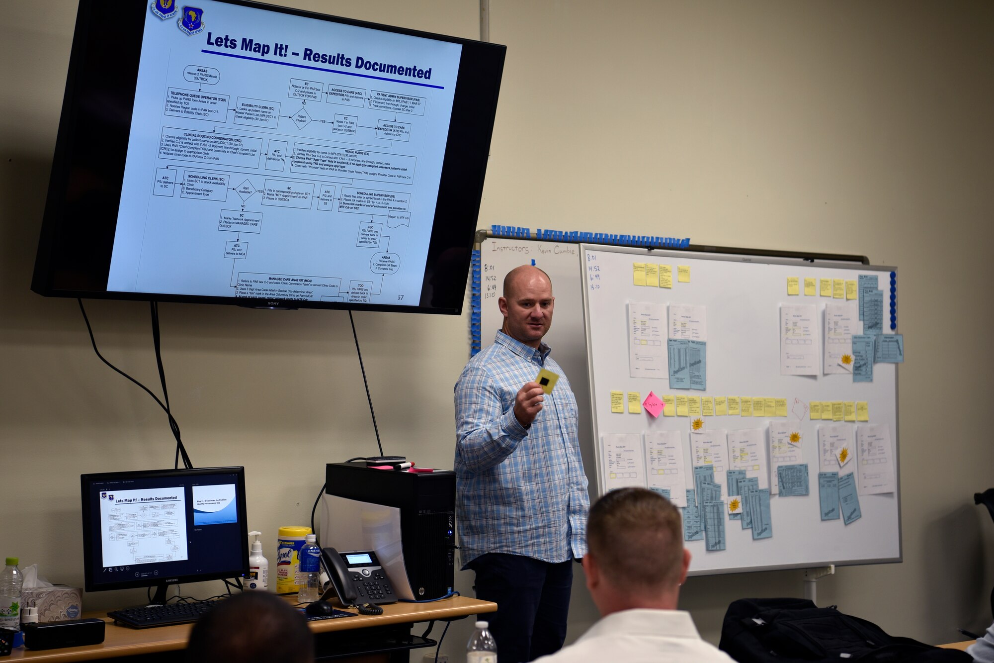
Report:
[[[455,492],[462,564],[485,552],[549,562],[586,553],[590,507],[577,434],[577,399],[563,369],[497,332],[455,383]],[[560,378],[532,425],[514,416],[525,382],[545,367]]]

